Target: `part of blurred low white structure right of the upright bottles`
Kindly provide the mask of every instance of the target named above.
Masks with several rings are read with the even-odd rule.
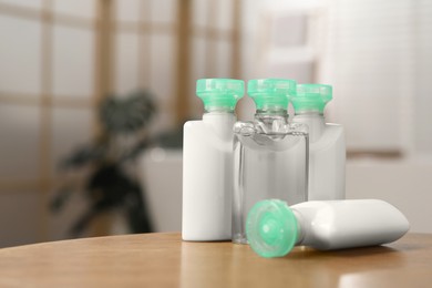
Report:
[[[387,200],[407,216],[411,232],[432,233],[432,163],[422,160],[349,161],[347,198]]]

